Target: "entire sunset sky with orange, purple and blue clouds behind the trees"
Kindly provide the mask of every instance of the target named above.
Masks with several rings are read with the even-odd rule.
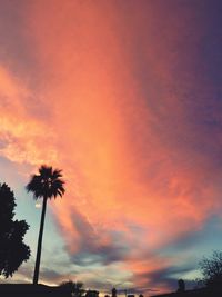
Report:
[[[32,279],[42,165],[40,281],[176,289],[222,245],[222,2],[0,0],[0,182],[30,226]]]

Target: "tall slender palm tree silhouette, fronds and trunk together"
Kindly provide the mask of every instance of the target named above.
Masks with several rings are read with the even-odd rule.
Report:
[[[51,199],[59,195],[62,197],[64,194],[64,181],[61,179],[62,170],[52,169],[51,166],[42,165],[39,168],[39,175],[31,176],[30,182],[27,185],[27,191],[32,191],[34,199],[43,198],[42,204],[42,214],[41,214],[41,222],[39,229],[39,239],[38,239],[38,248],[37,248],[37,258],[34,266],[34,275],[33,275],[33,284],[38,284],[39,279],[39,267],[40,267],[40,258],[41,258],[41,246],[42,246],[42,236],[44,228],[44,217],[47,210],[47,200]]]

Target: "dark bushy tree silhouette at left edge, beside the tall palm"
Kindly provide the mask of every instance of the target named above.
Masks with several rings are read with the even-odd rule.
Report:
[[[0,275],[12,276],[30,257],[30,248],[23,244],[29,226],[24,220],[13,220],[14,195],[7,184],[0,184]]]

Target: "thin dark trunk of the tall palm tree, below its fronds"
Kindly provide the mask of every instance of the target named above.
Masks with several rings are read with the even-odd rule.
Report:
[[[42,236],[43,236],[43,229],[44,229],[46,210],[47,210],[47,197],[43,197],[41,222],[40,222],[40,229],[39,229],[39,239],[38,239],[38,247],[37,247],[37,258],[36,258],[36,266],[34,266],[33,285],[38,285],[38,280],[39,280],[39,267],[40,267],[40,259],[41,259],[41,247],[42,247]]]

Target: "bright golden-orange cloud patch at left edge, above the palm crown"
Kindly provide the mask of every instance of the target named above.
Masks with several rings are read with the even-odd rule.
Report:
[[[47,154],[38,148],[48,137],[52,137],[52,132],[47,129],[46,123],[29,115],[28,105],[32,99],[30,90],[3,66],[0,67],[0,81],[1,155],[16,162],[53,161],[53,148],[48,146]]]

